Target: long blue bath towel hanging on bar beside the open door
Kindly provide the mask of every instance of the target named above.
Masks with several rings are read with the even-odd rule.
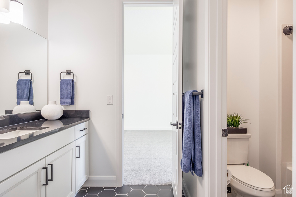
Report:
[[[190,90],[183,96],[183,141],[181,169],[202,176],[202,148],[200,135],[200,99]]]

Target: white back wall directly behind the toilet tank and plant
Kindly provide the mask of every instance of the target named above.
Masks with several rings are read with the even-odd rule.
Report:
[[[252,13],[252,14],[250,14]],[[259,0],[228,0],[227,113],[251,124],[249,165],[259,168]]]

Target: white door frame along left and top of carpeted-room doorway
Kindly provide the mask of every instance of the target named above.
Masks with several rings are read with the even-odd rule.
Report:
[[[116,186],[123,186],[123,9],[124,4],[172,4],[172,0],[116,1]]]

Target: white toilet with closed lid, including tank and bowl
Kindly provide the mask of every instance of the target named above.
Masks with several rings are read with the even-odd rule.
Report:
[[[227,167],[231,171],[231,195],[233,197],[272,197],[274,182],[266,174],[248,162],[248,148],[251,134],[228,134]]]

